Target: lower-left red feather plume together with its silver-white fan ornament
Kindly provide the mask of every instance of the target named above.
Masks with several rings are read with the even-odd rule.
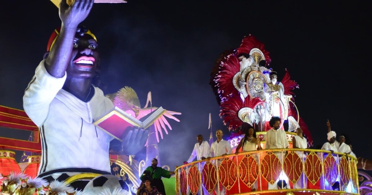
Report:
[[[253,109],[263,102],[258,97],[251,99],[249,95],[244,99],[244,102],[240,97],[231,97],[221,103],[219,116],[225,125],[228,124],[229,130],[237,129],[243,122],[253,125],[253,123],[259,122],[258,115],[254,113]]]

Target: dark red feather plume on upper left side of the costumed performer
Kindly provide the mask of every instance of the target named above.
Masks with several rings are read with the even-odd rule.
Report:
[[[234,75],[239,71],[239,60],[235,55],[230,54],[221,61],[214,82],[218,88],[218,94],[222,101],[224,101],[224,98],[231,96],[232,94],[238,95],[238,91],[235,89],[234,84],[232,84],[232,78],[234,78]]]

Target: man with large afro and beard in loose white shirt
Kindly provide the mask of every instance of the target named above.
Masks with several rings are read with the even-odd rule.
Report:
[[[280,118],[279,117],[272,117],[269,121],[270,127],[272,127],[270,130],[266,132],[266,146],[265,149],[277,149],[277,148],[289,148],[289,143],[287,139],[287,135],[284,130],[279,129],[280,127]],[[274,152],[274,154],[279,158],[280,163],[283,163],[283,159],[285,156],[283,156],[283,152]],[[278,189],[278,181],[279,179],[286,178],[285,181],[288,184],[288,178],[281,176],[284,176],[285,173],[282,171],[280,173],[280,177],[275,181],[273,184],[268,184],[268,189]],[[289,188],[289,185],[284,186]]]

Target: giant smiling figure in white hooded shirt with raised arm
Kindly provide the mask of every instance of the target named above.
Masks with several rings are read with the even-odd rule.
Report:
[[[100,71],[97,39],[80,24],[93,2],[75,0],[68,5],[61,1],[61,27],[49,38],[47,53],[23,96],[23,108],[41,134],[38,177],[48,182],[73,177],[70,184],[74,189],[84,189],[87,178],[111,175],[109,144],[113,138],[93,122],[113,104],[92,83]],[[127,155],[141,150],[148,134],[143,129],[130,131],[128,136],[140,137],[141,147],[123,142]]]

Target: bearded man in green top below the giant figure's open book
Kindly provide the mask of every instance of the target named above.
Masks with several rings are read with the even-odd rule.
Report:
[[[161,177],[164,178],[170,178],[171,175],[174,174],[174,172],[165,170],[161,167],[158,167],[158,159],[153,158],[151,160],[151,166],[148,166],[145,170],[144,173],[141,175],[140,179],[142,179],[143,176],[145,176],[145,172],[148,170],[150,171],[150,177],[153,178],[153,186],[155,186],[158,189],[158,192],[161,193],[162,195],[165,194],[165,188],[164,188],[164,183],[161,180]]]

